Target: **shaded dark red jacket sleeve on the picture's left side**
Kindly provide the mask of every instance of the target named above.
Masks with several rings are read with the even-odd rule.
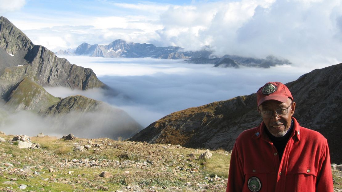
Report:
[[[242,166],[237,142],[233,147],[231,164],[229,165],[226,192],[241,192],[245,183],[244,167]]]

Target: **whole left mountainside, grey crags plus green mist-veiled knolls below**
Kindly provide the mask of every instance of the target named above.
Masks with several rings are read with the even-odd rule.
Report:
[[[105,116],[94,128],[95,137],[114,138],[118,130],[121,132],[117,136],[129,137],[141,129],[141,125],[123,110],[80,95],[54,97],[43,86],[63,86],[78,90],[103,88],[110,94],[116,94],[97,79],[92,69],[72,65],[47,48],[33,44],[21,30],[1,16],[0,105],[6,110],[0,110],[0,120],[5,119],[8,112],[26,110],[54,118],[56,123],[79,121],[79,127],[70,127],[70,124],[64,126],[68,130],[74,128],[75,131],[80,128],[78,134],[86,136],[82,135],[82,126],[86,126],[84,123],[88,121],[97,122],[97,119],[89,119],[89,115],[84,115],[94,113]],[[110,124],[104,125],[104,121]],[[62,130],[65,127],[57,128]]]

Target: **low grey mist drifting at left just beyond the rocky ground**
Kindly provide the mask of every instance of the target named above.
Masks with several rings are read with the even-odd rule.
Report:
[[[5,107],[6,108],[6,107]],[[0,109],[0,131],[8,135],[36,136],[38,133],[61,138],[70,133],[76,137],[117,139],[129,138],[140,127],[121,110],[103,106],[104,110],[70,112],[56,116],[42,116],[31,111]]]

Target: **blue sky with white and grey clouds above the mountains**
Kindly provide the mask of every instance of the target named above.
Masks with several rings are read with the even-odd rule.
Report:
[[[341,0],[0,0],[8,18],[52,51],[116,39],[181,46],[210,45],[218,56],[275,55],[294,65],[342,60]]]

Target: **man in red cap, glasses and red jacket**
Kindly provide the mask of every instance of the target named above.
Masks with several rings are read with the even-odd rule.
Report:
[[[286,85],[266,83],[257,104],[263,121],[236,139],[226,192],[333,192],[327,139],[292,117]]]

